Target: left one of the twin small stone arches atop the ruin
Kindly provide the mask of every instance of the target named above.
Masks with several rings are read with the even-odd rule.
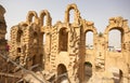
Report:
[[[32,17],[35,16],[35,22],[32,22]],[[30,23],[37,23],[38,24],[38,15],[35,11],[29,11],[26,17],[26,22],[28,24]]]

